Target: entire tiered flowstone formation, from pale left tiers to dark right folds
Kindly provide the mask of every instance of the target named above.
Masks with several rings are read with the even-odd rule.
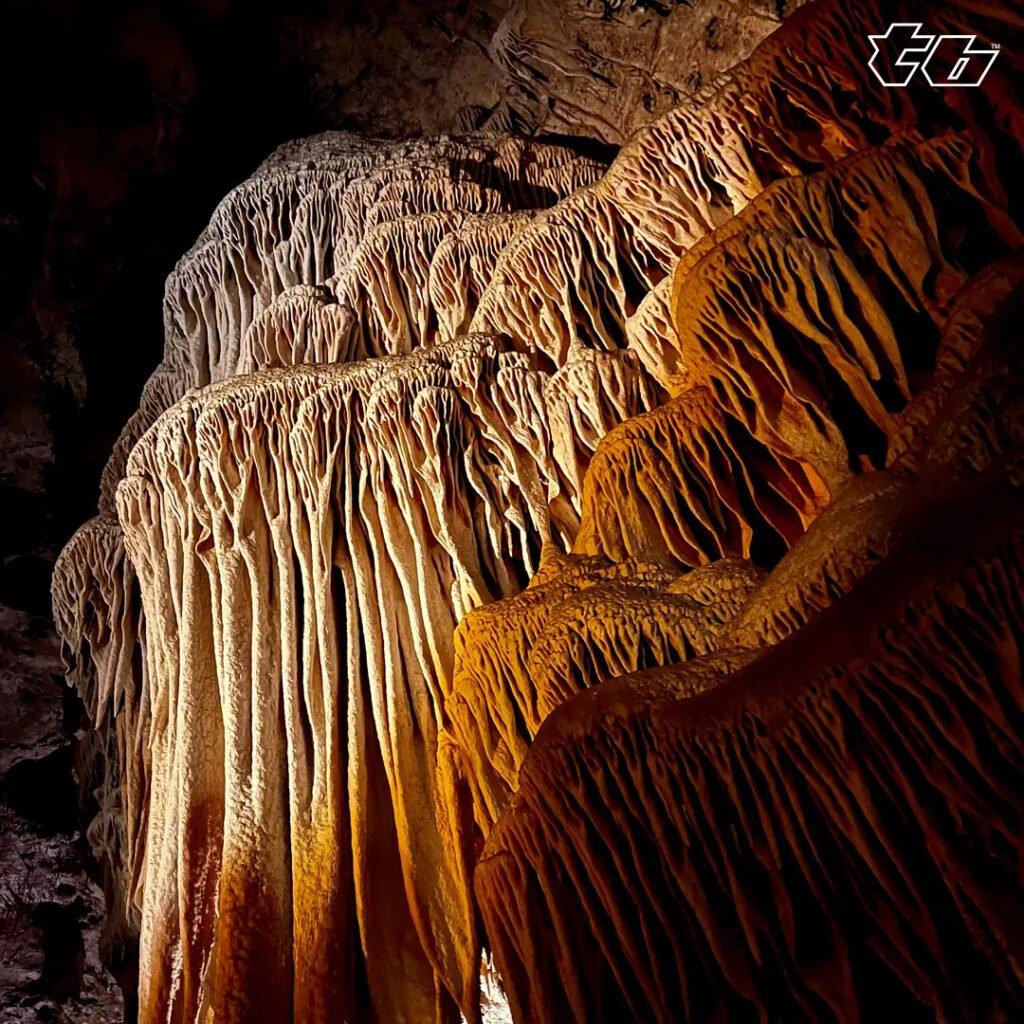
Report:
[[[221,204],[54,575],[143,1022],[1024,1012],[1019,29]]]

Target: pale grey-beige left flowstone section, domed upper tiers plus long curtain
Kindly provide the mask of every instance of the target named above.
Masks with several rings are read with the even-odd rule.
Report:
[[[570,543],[593,446],[653,394],[627,353],[459,335],[529,208],[599,169],[511,137],[318,137],[169,280],[104,476],[120,527],[83,529],[54,587],[70,678],[144,758],[104,794],[143,1019],[478,1012],[439,767],[455,625]]]

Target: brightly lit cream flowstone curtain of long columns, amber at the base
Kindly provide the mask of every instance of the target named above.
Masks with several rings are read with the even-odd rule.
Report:
[[[469,336],[268,370],[194,392],[135,447],[118,507],[166,722],[150,1013],[191,1019],[205,998],[218,1018],[322,1019],[352,998],[350,977],[324,979],[354,969],[356,944],[380,1020],[424,1019],[442,985],[475,1005],[441,694],[459,617],[522,586],[536,539],[564,544],[574,525],[586,452],[561,439],[600,435],[646,397],[628,362],[587,362],[566,390],[577,365],[552,375]],[[176,956],[187,970],[168,978]]]

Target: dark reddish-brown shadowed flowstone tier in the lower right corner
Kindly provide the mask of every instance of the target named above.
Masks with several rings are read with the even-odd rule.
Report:
[[[972,470],[862,478],[719,653],[545,722],[476,876],[515,1014],[1019,1013],[1019,413],[996,403],[1020,303],[938,420]],[[544,930],[558,957],[525,938]]]

